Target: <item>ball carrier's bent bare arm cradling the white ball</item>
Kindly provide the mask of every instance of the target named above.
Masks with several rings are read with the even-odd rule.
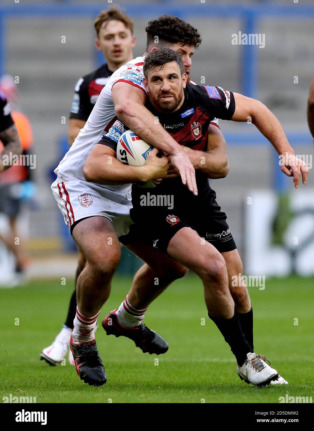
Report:
[[[168,163],[165,156],[157,157],[154,148],[143,166],[125,165],[117,159],[115,150],[107,145],[93,147],[84,164],[83,173],[86,181],[98,184],[130,184],[162,178],[167,174]]]

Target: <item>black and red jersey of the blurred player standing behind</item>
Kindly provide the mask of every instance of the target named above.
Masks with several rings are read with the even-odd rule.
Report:
[[[107,84],[113,72],[106,64],[80,78],[75,86],[70,119],[87,121],[98,99],[100,91]]]

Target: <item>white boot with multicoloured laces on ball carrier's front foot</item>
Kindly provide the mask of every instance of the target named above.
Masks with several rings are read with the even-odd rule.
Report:
[[[248,353],[246,356],[244,364],[236,366],[236,372],[241,380],[255,386],[266,386],[278,377],[277,371],[262,359],[266,359],[264,356],[255,353]]]

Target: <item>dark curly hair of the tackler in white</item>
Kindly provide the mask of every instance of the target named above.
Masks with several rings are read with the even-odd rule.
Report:
[[[182,46],[190,45],[197,49],[202,42],[197,28],[192,27],[177,16],[160,16],[158,19],[149,21],[145,30],[147,33],[146,51],[152,45],[161,47],[167,43],[180,43]],[[156,36],[158,36],[158,42],[155,39]]]

